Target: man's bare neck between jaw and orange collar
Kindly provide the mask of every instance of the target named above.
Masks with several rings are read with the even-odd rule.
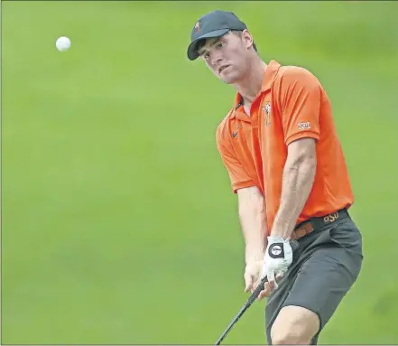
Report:
[[[235,89],[242,96],[245,104],[252,103],[260,92],[266,68],[266,63],[256,57],[250,70],[246,73],[245,79],[235,84]]]

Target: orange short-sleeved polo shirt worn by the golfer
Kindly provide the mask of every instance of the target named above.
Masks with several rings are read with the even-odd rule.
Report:
[[[350,207],[354,196],[330,100],[310,71],[271,61],[250,117],[240,100],[236,94],[234,108],[218,125],[218,151],[233,192],[257,186],[264,193],[269,229],[281,200],[287,146],[300,138],[317,141],[317,168],[297,224]]]

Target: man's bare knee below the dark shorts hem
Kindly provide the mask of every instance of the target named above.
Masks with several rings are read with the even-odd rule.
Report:
[[[319,331],[316,313],[300,306],[285,306],[271,329],[273,345],[310,345]]]

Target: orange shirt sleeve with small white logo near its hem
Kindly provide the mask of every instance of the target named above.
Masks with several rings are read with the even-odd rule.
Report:
[[[309,70],[294,67],[282,76],[282,126],[286,145],[305,137],[319,140],[321,91],[319,80]]]

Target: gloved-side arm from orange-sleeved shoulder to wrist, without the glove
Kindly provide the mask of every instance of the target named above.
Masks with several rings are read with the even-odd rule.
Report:
[[[289,238],[315,178],[322,87],[309,70],[302,68],[286,70],[277,87],[282,90],[279,107],[288,154],[271,235]]]

